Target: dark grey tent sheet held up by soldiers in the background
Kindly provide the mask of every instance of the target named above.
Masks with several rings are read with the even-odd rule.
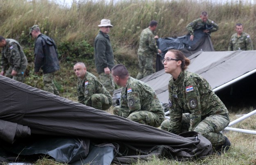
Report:
[[[177,38],[159,38],[156,43],[162,53],[157,54],[156,56],[156,71],[163,69],[161,60],[169,49],[180,50],[186,57],[189,57],[200,50],[204,52],[214,51],[210,34],[204,33],[203,30],[204,29],[195,30],[193,41],[190,41],[190,34]]]

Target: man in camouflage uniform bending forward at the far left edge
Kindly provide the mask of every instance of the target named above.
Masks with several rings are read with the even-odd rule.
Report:
[[[1,75],[24,82],[24,73],[27,68],[27,57],[22,47],[14,39],[5,39],[0,36],[2,47]]]

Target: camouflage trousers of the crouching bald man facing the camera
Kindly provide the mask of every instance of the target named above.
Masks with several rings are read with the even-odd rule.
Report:
[[[93,94],[91,96],[91,107],[99,110],[107,110],[111,107],[109,104],[109,98],[104,94]]]

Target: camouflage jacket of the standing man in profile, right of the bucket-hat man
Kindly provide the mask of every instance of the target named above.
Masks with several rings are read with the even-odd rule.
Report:
[[[140,34],[138,55],[144,57],[154,57],[156,53],[158,53],[158,47],[156,46],[156,41],[152,31],[148,27]]]

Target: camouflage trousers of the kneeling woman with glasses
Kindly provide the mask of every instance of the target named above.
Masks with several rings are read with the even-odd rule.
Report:
[[[224,115],[210,115],[195,127],[195,130],[200,135],[208,139],[213,147],[219,147],[225,142],[225,137],[220,133],[225,127],[229,125],[229,117]],[[170,120],[165,120],[161,124],[161,129],[168,131]],[[184,113],[182,115],[182,131],[188,131],[190,127],[190,114]]]

